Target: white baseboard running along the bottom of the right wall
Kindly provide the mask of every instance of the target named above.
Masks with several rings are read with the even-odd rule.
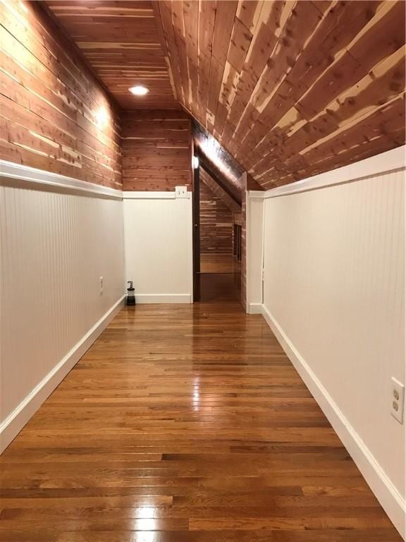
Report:
[[[388,476],[386,476],[381,465],[376,461],[369,448],[344,416],[343,412],[340,411],[338,404],[334,402],[333,397],[329,395],[305,359],[302,358],[295,346],[290,342],[288,335],[285,334],[281,326],[273,318],[273,315],[271,315],[264,305],[262,305],[261,312],[264,315],[266,323],[271,327],[278,342],[281,344],[285,354],[287,354],[293,366],[295,366],[296,371],[300,374],[314,399],[316,399],[316,402],[326,415],[326,418],[347,448],[352,459],[354,459],[362,476],[364,476],[374,495],[381,503],[383,510],[388,514],[388,517],[396,529],[398,529],[402,538],[405,539],[406,500],[402,498],[397,488],[395,488]]]

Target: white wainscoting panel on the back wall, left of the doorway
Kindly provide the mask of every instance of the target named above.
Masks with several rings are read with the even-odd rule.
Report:
[[[136,303],[192,302],[192,198],[124,193],[125,280]]]

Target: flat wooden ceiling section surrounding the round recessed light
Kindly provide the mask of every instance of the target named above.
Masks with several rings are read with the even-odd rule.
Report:
[[[179,107],[153,2],[47,0],[44,4],[123,109]],[[149,94],[131,95],[128,88],[135,85],[146,86]]]

